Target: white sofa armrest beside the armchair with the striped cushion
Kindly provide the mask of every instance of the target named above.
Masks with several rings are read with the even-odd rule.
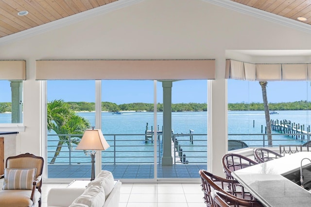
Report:
[[[52,188],[48,193],[48,207],[69,207],[86,188]]]

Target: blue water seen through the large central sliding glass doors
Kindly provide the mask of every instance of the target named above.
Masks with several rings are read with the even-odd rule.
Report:
[[[91,126],[95,125],[94,112],[79,112],[78,115],[87,118]],[[122,114],[112,114],[112,112],[102,112],[102,131],[105,139],[110,144],[108,150],[103,152],[105,163],[128,163],[129,159],[132,163],[153,163],[154,160],[154,143],[151,141],[145,142],[145,131],[152,129],[154,122],[153,112],[122,112]],[[157,129],[162,131],[163,113],[157,113]],[[153,130],[155,128],[153,127]],[[197,143],[189,144],[189,136],[177,137],[179,144],[187,155],[187,160],[195,160],[196,157],[205,157],[201,162],[206,162],[207,157],[207,112],[172,112],[172,130],[174,134],[189,134],[190,130],[194,134],[204,134],[195,136]],[[53,134],[51,132],[51,134]],[[113,136],[117,134],[117,136]],[[162,153],[161,136],[157,143],[157,156]],[[58,143],[57,136],[48,136],[48,161],[52,159],[56,145]],[[160,144],[159,144],[160,143]],[[74,147],[73,147],[74,148]],[[199,151],[204,151],[200,153]],[[116,154],[114,154],[116,153]],[[82,152],[72,150],[69,155],[69,149],[65,146],[57,162],[60,160],[71,162],[89,162],[89,157],[86,157]],[[115,157],[117,157],[116,160]]]

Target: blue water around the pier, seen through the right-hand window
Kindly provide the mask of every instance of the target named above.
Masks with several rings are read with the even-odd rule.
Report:
[[[304,130],[307,131],[307,127],[310,127],[311,116],[309,117],[310,111],[304,110],[289,110],[289,111],[276,111],[277,114],[270,114],[270,119],[273,121],[291,121],[292,123],[303,125]],[[249,146],[264,146],[268,145],[268,142],[263,142],[262,134],[265,133],[265,114],[264,111],[228,111],[228,139],[242,140]],[[247,134],[247,135],[233,135],[233,134]],[[272,130],[273,145],[278,146],[279,144],[303,144],[307,142],[307,136],[304,140],[298,137],[282,135],[278,131]],[[267,139],[267,137],[265,137]]]

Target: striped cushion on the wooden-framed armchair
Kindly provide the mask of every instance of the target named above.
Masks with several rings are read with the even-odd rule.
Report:
[[[4,169],[3,190],[32,190],[37,169]]]

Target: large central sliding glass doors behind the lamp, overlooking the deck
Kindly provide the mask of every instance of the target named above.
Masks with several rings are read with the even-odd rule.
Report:
[[[69,122],[71,113],[87,120],[89,127],[101,123],[110,145],[101,153],[102,169],[115,178],[199,177],[198,169],[207,163],[207,80],[101,80],[101,90],[98,83],[47,81],[48,178],[90,176],[90,156],[75,150],[86,125]],[[102,97],[99,116],[95,91]],[[171,128],[164,138],[167,121]],[[170,163],[163,160],[165,156],[172,158]],[[162,167],[164,162],[173,171]],[[59,173],[59,168],[75,173]]]

